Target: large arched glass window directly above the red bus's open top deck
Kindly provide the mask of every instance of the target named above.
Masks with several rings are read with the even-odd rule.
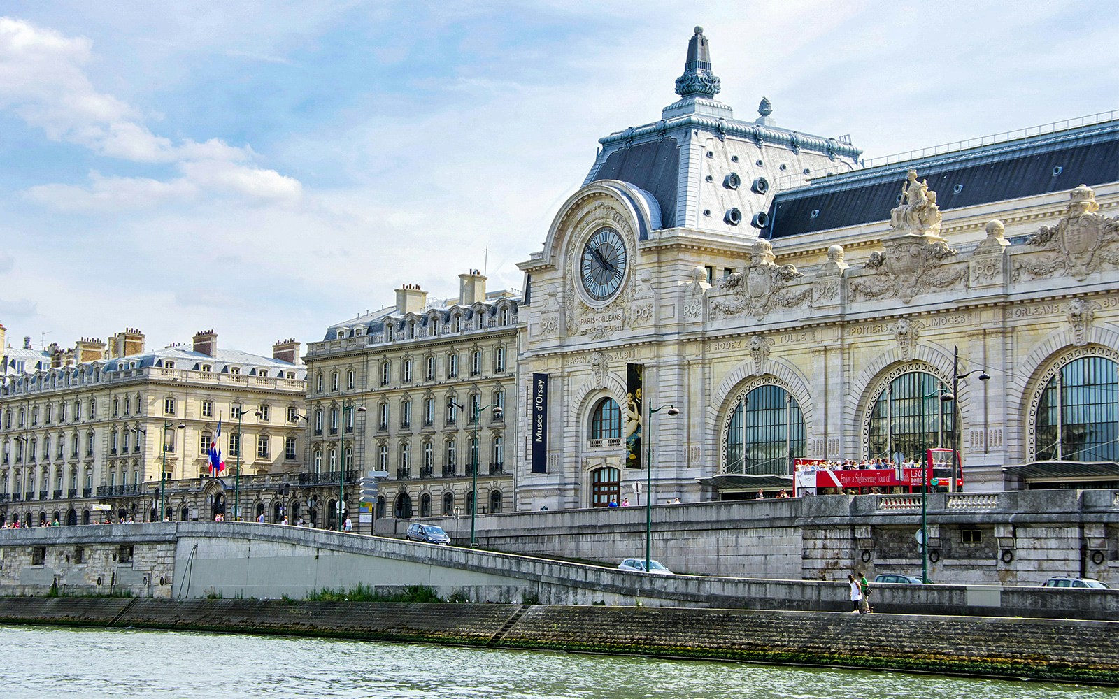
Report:
[[[935,376],[909,371],[882,387],[874,397],[866,456],[924,461],[924,451],[951,444],[953,413],[948,393]]]

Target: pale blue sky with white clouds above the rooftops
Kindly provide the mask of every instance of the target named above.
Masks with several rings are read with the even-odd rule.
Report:
[[[7,0],[7,341],[270,356],[401,284],[519,290],[696,25],[735,116],[767,96],[865,158],[1119,108],[1108,0]]]

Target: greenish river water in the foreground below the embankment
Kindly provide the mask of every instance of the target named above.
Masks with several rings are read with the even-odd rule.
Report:
[[[0,625],[6,697],[1096,699],[1096,687],[283,636]]]

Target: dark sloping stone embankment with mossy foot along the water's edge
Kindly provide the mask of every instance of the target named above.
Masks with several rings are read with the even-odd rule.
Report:
[[[0,622],[276,633],[1119,684],[1116,622],[680,607],[0,597]]]

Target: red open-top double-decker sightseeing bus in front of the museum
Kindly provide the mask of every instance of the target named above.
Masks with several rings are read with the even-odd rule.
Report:
[[[955,492],[963,488],[963,471],[958,467],[956,452],[950,448],[928,450],[924,466],[833,469],[822,459],[797,459],[794,469],[793,492],[797,495],[815,494],[820,489],[829,488],[859,493],[871,492],[872,489],[920,492],[922,475],[928,479],[929,492]]]

